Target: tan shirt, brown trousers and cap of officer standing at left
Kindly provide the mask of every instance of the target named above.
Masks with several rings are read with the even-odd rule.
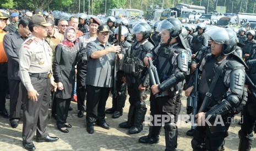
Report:
[[[42,15],[34,15],[29,21],[31,25],[51,26],[47,24]],[[41,29],[42,30],[42,29]],[[52,76],[52,49],[45,39],[39,39],[31,33],[19,50],[20,79],[23,89],[26,89],[23,108],[23,145],[25,148],[34,150],[32,144],[36,131],[37,142],[54,142],[58,137],[48,136],[46,131],[48,119],[48,107],[51,95]],[[39,94],[37,101],[31,101],[27,92],[36,90]]]

